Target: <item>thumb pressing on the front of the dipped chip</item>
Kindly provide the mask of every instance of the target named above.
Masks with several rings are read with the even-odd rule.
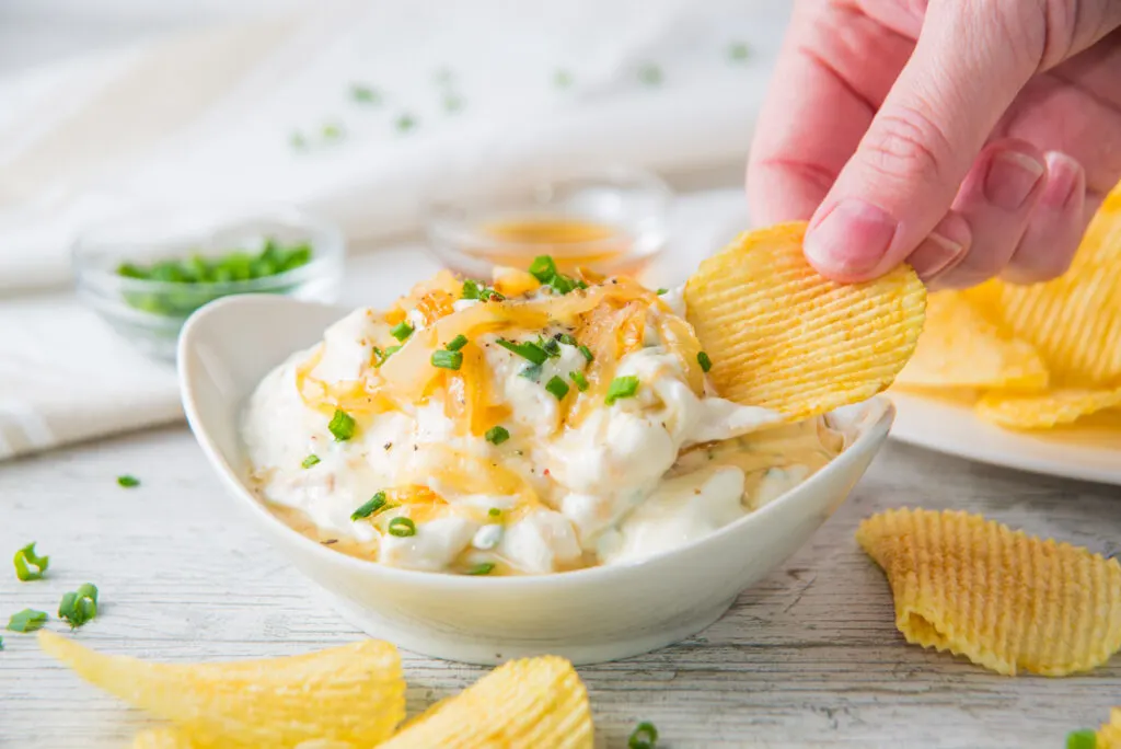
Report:
[[[1045,19],[1028,10],[1037,4],[930,3],[911,58],[810,221],[805,251],[818,271],[841,281],[876,278],[932,232],[943,247],[965,250],[969,230],[947,212],[1038,67]],[[936,231],[944,219],[949,225]]]

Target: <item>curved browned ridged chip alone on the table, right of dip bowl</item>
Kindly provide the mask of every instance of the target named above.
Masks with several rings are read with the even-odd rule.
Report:
[[[856,540],[887,574],[908,642],[1009,676],[1090,671],[1121,648],[1117,560],[952,510],[888,510]]]

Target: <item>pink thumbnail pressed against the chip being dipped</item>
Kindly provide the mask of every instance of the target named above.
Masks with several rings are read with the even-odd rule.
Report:
[[[865,274],[887,255],[898,226],[882,209],[846,197],[810,225],[806,258],[825,274]]]

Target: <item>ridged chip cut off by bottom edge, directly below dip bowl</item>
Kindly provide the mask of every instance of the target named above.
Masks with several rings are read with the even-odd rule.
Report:
[[[380,749],[591,749],[592,711],[576,669],[544,656],[506,663],[437,702]]]

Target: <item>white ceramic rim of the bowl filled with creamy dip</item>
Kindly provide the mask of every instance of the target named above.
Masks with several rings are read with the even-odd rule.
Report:
[[[537,586],[552,586],[552,588],[564,588],[568,585],[580,585],[585,582],[594,583],[596,581],[609,580],[619,575],[626,575],[628,572],[639,571],[643,567],[654,566],[658,564],[669,563],[674,556],[684,554],[697,546],[712,543],[717,538],[730,536],[733,534],[740,534],[744,530],[765,524],[767,519],[781,510],[786,505],[791,502],[797,502],[798,498],[813,488],[826,483],[830,481],[833,473],[841,470],[842,465],[852,463],[859,460],[859,456],[864,452],[864,450],[872,449],[872,444],[879,442],[882,444],[883,438],[887,437],[888,431],[890,429],[891,423],[895,419],[896,408],[891,400],[882,395],[873,396],[861,404],[855,404],[852,407],[863,408],[861,416],[861,424],[858,429],[856,438],[852,443],[846,444],[845,449],[835,459],[830,461],[819,471],[810,475],[808,479],[796,486],[790,491],[781,494],[773,501],[765,505],[758,510],[745,514],[744,516],[733,520],[732,523],[717,528],[711,534],[691,540],[680,546],[675,546],[657,554],[650,555],[642,560],[633,563],[626,564],[597,564],[591,567],[582,567],[578,570],[571,570],[565,572],[552,572],[540,575],[503,575],[498,577],[485,577],[485,576],[472,576],[472,575],[454,575],[444,572],[429,572],[423,570],[408,570],[404,567],[393,567],[390,565],[383,565],[379,562],[373,562],[370,560],[362,560],[349,554],[342,554],[336,552],[323,544],[319,544],[307,536],[303,535],[298,530],[288,526],[280,518],[269,511],[265,503],[241,481],[225,457],[222,455],[221,451],[214,444],[210,434],[206,432],[202,417],[198,409],[195,407],[195,394],[194,394],[194,379],[197,377],[195,372],[195,363],[193,358],[189,355],[194,339],[197,335],[196,330],[201,327],[209,317],[215,314],[221,314],[224,312],[224,307],[228,306],[252,306],[260,304],[262,302],[267,303],[287,303],[297,304],[304,306],[319,306],[339,311],[341,314],[345,314],[346,309],[341,305],[324,305],[313,302],[305,302],[302,299],[293,299],[290,297],[276,297],[268,295],[242,295],[234,297],[224,297],[221,299],[215,299],[210,304],[203,306],[191,317],[187,318],[186,324],[183,327],[183,332],[179,335],[178,351],[177,351],[177,370],[179,379],[179,391],[183,401],[183,409],[187,417],[187,423],[191,426],[191,431],[202,447],[203,453],[206,455],[207,462],[211,468],[216,471],[226,484],[226,488],[231,493],[238,497],[238,500],[247,506],[247,508],[252,512],[252,515],[258,518],[258,521],[267,526],[267,529],[275,529],[276,531],[286,535],[296,545],[304,546],[304,551],[307,554],[314,555],[317,560],[325,564],[341,565],[354,573],[363,575],[382,575],[388,580],[400,584],[420,584],[428,589],[441,589],[441,590],[452,590],[452,589],[463,589],[464,586],[472,588],[474,590],[524,590],[527,588]],[[294,350],[295,352],[295,350]],[[270,368],[260,374],[265,377],[268,371],[277,367],[279,362],[272,363]],[[258,380],[259,381],[259,380]],[[241,401],[248,397],[249,394],[242,394]],[[239,404],[226,404],[229,408],[235,408],[242,405]],[[235,412],[240,413],[240,412]],[[833,413],[833,412],[831,412]],[[240,435],[240,429],[238,431]],[[872,443],[872,444],[870,444]],[[287,549],[284,549],[286,556],[289,555]]]

